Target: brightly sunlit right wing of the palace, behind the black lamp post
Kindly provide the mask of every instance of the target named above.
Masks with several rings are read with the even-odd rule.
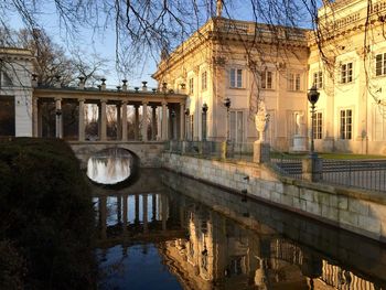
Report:
[[[319,10],[309,83],[320,90],[318,151],[386,154],[386,1],[340,0]],[[311,125],[311,123],[309,123]]]

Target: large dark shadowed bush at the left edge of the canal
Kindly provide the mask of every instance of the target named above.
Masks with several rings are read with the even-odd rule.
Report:
[[[92,289],[94,211],[61,140],[0,140],[0,289]]]

